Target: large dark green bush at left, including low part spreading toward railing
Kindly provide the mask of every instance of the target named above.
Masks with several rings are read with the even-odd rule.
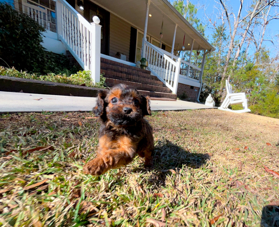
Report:
[[[0,12],[0,66],[41,74],[71,75],[79,70],[69,67],[66,56],[45,51],[45,29],[38,22],[8,4],[0,3]]]

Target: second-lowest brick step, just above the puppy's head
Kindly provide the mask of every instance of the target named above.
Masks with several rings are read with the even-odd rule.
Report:
[[[142,84],[142,83],[137,83],[137,82],[106,78],[107,86],[112,87],[115,84],[126,84],[128,86],[132,86],[132,87],[136,88],[137,90],[146,90],[146,91],[151,91],[151,92],[163,92],[163,93],[168,93],[168,94],[171,93],[171,90],[166,87],[159,87],[159,86],[154,86],[154,85],[149,85],[149,84]]]

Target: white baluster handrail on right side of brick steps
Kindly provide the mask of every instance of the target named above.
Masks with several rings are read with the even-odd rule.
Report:
[[[177,94],[181,59],[174,61],[161,48],[145,41],[144,56],[147,59],[147,69],[162,81],[174,94]]]

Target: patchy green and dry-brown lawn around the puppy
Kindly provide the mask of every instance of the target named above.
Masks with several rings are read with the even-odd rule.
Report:
[[[279,225],[279,178],[270,171],[279,172],[279,119],[214,109],[153,112],[147,119],[153,168],[137,157],[88,176],[82,166],[95,156],[99,128],[92,113],[2,115],[0,223]]]

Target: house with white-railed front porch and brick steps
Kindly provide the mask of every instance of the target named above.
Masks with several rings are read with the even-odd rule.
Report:
[[[167,0],[15,0],[15,8],[38,21],[43,46],[63,53],[95,82],[126,83],[143,94],[199,99],[206,54],[211,46]],[[177,57],[181,47],[203,53],[200,67]],[[136,67],[142,57],[146,69]]]

